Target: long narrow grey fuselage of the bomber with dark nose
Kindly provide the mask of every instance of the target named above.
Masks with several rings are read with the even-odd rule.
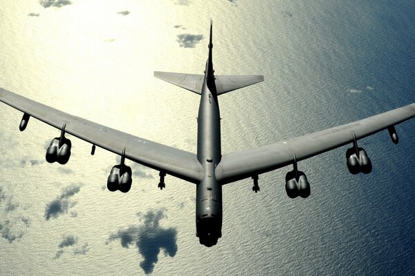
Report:
[[[196,236],[205,246],[213,246],[222,235],[222,187],[215,176],[215,168],[221,161],[221,116],[211,43],[209,48],[197,120],[197,158],[204,168],[204,175],[196,185]]]

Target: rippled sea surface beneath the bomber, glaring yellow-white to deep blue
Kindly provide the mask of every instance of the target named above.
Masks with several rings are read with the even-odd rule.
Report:
[[[42,1],[47,3],[56,1]],[[362,3],[364,2],[364,3]],[[381,3],[380,3],[381,2]],[[203,73],[210,19],[220,75],[265,81],[219,97],[222,150],[323,130],[415,102],[411,1],[117,1],[0,3],[0,87],[73,115],[196,151],[199,97],[154,70]],[[28,15],[30,14],[30,15]],[[291,168],[223,186],[223,237],[195,237],[195,187],[131,164],[127,194],[106,188],[119,157],[0,105],[0,275],[414,275],[415,121],[299,162],[308,199],[289,199]]]

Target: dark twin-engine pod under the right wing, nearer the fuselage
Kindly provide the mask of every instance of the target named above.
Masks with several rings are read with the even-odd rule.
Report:
[[[302,171],[297,172],[297,177],[295,174],[295,170],[291,170],[291,172],[287,172],[286,174],[286,192],[288,197],[295,198],[295,197],[303,197],[307,198],[310,196],[311,188],[310,184],[308,183],[306,174]]]

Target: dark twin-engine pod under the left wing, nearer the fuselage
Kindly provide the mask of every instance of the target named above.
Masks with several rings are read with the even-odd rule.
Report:
[[[113,166],[107,179],[108,190],[111,192],[120,190],[122,193],[127,193],[133,183],[132,175],[132,170],[127,165]]]

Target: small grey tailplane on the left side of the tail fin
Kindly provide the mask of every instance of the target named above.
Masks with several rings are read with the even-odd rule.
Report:
[[[201,95],[204,77],[203,75],[155,71],[154,77],[163,79],[163,81],[173,83],[176,86],[180,86],[181,88],[185,88]]]

